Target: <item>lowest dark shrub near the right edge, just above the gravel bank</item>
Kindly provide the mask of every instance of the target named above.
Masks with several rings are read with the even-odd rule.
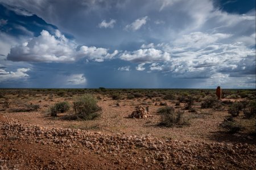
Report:
[[[234,134],[242,130],[242,126],[239,125],[232,117],[225,119],[220,126],[228,131],[228,133]]]

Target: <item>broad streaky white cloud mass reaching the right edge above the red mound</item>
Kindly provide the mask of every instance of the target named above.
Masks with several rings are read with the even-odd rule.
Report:
[[[192,39],[191,35],[196,36]],[[203,40],[197,39],[197,35],[212,42],[210,44],[203,42]],[[233,44],[221,42],[228,36],[223,34],[204,35],[196,32],[184,36],[189,37],[187,40],[191,40],[190,42],[179,40],[173,44],[158,44],[155,47],[170,53],[172,58],[166,62],[154,62],[149,69],[170,73],[177,78],[204,78],[208,79],[209,84],[214,81],[215,83],[225,83],[224,80],[227,77],[229,79],[226,80],[232,82],[235,77],[255,79],[255,49],[247,48],[243,42],[234,42]],[[251,78],[253,75],[254,78]],[[243,82],[243,86],[245,86],[245,82]]]

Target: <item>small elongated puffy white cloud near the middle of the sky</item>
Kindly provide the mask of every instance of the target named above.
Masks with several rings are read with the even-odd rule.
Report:
[[[154,48],[139,49],[134,52],[127,52],[121,54],[121,59],[131,62],[152,63],[170,61],[171,56],[167,52],[162,52]]]

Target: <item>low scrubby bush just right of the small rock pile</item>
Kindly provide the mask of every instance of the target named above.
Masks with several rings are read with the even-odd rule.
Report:
[[[161,114],[160,126],[184,126],[189,125],[189,121],[184,118],[184,112],[174,111],[172,107],[164,107],[158,110],[158,113]]]

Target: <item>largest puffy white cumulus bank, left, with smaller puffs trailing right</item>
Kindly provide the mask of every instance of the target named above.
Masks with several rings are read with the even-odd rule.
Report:
[[[77,59],[86,58],[102,62],[105,59],[112,59],[117,53],[117,50],[108,53],[108,49],[105,48],[79,46],[61,35],[59,30],[56,30],[55,35],[43,30],[40,36],[11,48],[7,59],[27,62],[75,62]]]

